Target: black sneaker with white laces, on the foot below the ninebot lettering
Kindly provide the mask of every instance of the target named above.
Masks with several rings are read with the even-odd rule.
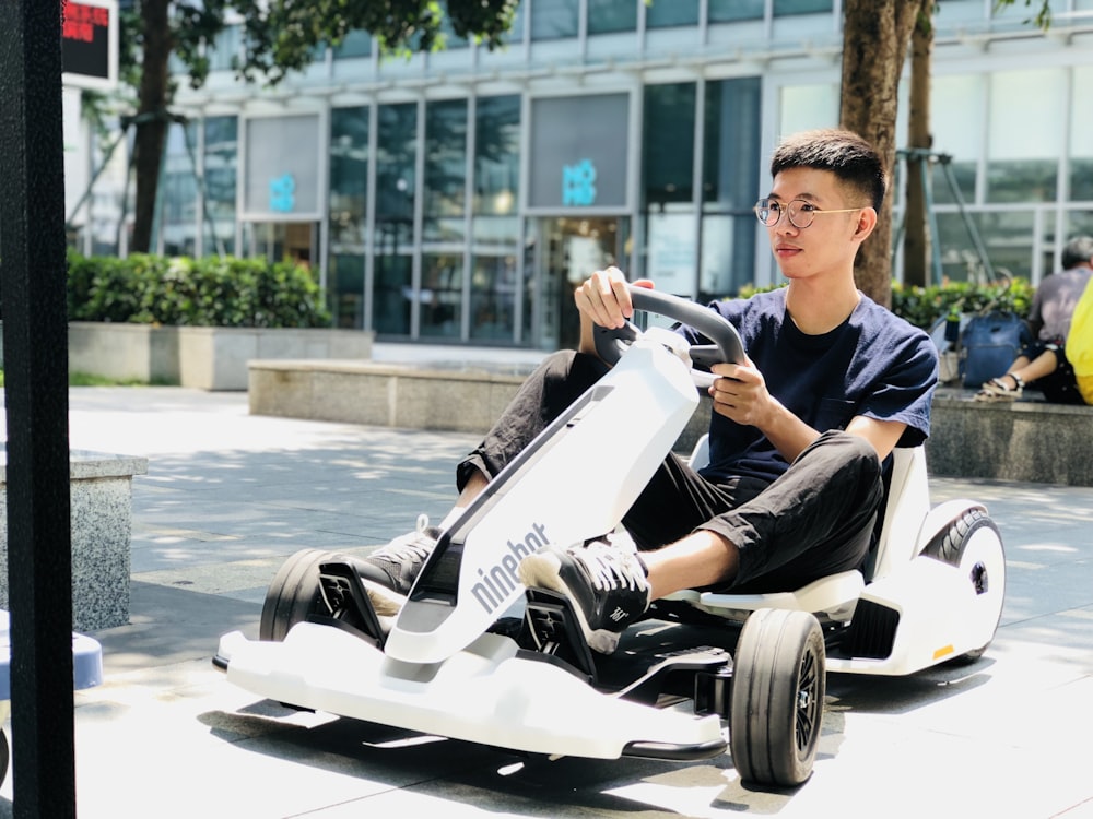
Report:
[[[520,561],[520,581],[573,601],[588,645],[610,654],[620,634],[649,608],[649,581],[637,551],[599,539],[568,549],[544,549]]]

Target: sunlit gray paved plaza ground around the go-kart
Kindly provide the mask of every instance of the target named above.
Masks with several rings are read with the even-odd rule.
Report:
[[[474,437],[255,417],[244,393],[180,388],[77,388],[70,406],[73,449],[149,458],[132,622],[95,633],[106,681],[77,693],[83,819],[1093,817],[1093,489],[935,479],[936,502],[980,499],[1001,527],[992,649],[907,679],[833,675],[813,778],[763,793],[727,755],[521,759],[290,712],[212,668],[221,633],[257,636],[292,553],[366,554],[439,519]],[[10,798],[9,776],[0,816]]]

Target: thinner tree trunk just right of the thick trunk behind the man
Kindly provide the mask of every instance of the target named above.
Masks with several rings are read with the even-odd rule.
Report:
[[[922,182],[930,173],[922,158],[933,145],[930,132],[930,69],[933,59],[933,3],[921,0],[918,21],[910,39],[910,110],[907,119],[907,206],[904,212],[903,281],[926,287],[930,284],[930,236]],[[928,180],[927,180],[928,183]],[[938,283],[940,284],[940,283]]]

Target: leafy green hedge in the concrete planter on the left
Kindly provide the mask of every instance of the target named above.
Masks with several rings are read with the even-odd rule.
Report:
[[[69,252],[70,321],[197,327],[330,327],[304,268],[231,257],[128,259]]]

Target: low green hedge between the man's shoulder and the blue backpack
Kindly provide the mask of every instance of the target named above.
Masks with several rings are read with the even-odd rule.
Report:
[[[892,284],[892,312],[915,327],[928,330],[941,317],[960,318],[961,313],[997,309],[1029,314],[1035,288],[1025,278],[992,284],[953,282],[943,286],[904,286]]]

